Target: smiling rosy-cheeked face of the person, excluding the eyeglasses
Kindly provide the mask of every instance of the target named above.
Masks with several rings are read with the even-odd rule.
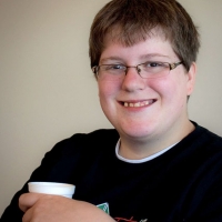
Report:
[[[100,58],[100,64],[137,65],[147,61],[180,60],[170,42],[158,36],[132,47],[108,40]],[[186,100],[193,90],[194,75],[194,64],[189,73],[180,64],[157,79],[142,79],[134,68],[129,68],[123,80],[98,79],[100,103],[121,138],[173,137],[188,125]]]

